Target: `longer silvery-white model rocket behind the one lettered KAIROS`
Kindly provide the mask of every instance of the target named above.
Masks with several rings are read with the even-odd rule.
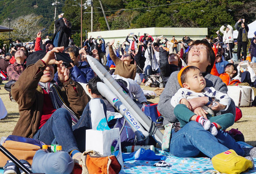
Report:
[[[94,59],[92,56],[87,55],[86,57],[90,67],[98,75],[98,77],[101,78],[109,89],[119,98],[123,105],[125,105],[126,109],[130,111],[131,115],[133,115],[133,117],[137,119],[139,123],[141,123],[144,129],[147,130],[148,134],[152,135],[156,142],[158,142],[158,144],[161,146],[163,134],[156,128],[155,123],[143,113],[138,105],[124,92],[122,87],[117,83],[117,81],[114,80],[114,78],[108,71],[106,71],[98,60]],[[113,101],[109,102],[112,103]]]

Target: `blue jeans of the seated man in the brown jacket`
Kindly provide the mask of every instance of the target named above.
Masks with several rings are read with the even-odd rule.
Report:
[[[106,105],[101,100],[106,115]],[[48,121],[34,135],[34,139],[38,139],[46,144],[51,144],[56,138],[63,151],[71,152],[78,149],[85,151],[85,130],[92,129],[92,121],[90,119],[89,103],[86,105],[79,121],[72,126],[71,116],[66,109],[57,109]]]

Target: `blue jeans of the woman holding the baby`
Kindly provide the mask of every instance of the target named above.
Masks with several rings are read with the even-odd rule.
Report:
[[[214,136],[195,121],[188,122],[177,132],[172,130],[170,152],[175,156],[195,157],[203,152],[213,158],[229,149],[233,149],[238,155],[244,155],[240,145],[224,131],[219,130]]]

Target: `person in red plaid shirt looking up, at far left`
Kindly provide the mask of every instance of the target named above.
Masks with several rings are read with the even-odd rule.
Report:
[[[25,59],[27,58],[25,52],[22,49],[19,49],[18,51],[15,52],[14,54],[15,57],[15,63],[9,65],[7,67],[7,75],[9,77],[9,81],[15,80],[17,81],[20,74],[26,69],[26,63]]]

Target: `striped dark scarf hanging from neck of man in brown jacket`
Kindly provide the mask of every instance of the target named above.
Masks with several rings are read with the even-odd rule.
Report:
[[[39,82],[39,86],[46,90],[46,92],[49,94],[55,109],[64,108],[68,110],[69,114],[71,115],[72,125],[76,125],[76,123],[79,121],[79,117],[77,117],[77,115],[65,104],[63,98],[60,96],[60,89],[59,86],[57,86],[57,83]]]

